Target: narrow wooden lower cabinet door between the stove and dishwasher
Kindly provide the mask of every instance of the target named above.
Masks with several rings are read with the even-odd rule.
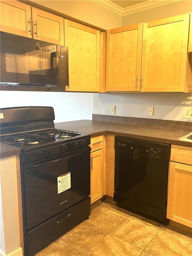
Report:
[[[103,149],[91,153],[91,204],[103,196]]]

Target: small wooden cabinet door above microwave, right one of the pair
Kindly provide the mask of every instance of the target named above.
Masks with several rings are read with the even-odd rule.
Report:
[[[64,45],[64,18],[32,7],[33,38]]]

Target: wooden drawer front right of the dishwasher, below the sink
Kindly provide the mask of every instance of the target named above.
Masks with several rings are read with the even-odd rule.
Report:
[[[171,145],[171,161],[192,165],[192,148]]]

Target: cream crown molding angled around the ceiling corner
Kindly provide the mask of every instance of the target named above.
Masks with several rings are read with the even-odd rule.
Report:
[[[117,4],[114,4],[113,2],[109,1],[109,0],[89,0],[95,4],[98,4],[102,7],[104,7],[105,9],[108,9],[120,16],[125,16],[125,15],[129,15],[132,13],[136,13],[136,12],[141,12],[141,11],[145,11],[148,9],[152,9],[155,7],[159,7],[159,6],[163,6],[163,5],[167,5],[167,4],[172,4],[175,2],[180,2],[183,0],[149,0],[140,4],[135,4],[129,7],[125,7],[122,8],[120,6],[118,6]]]

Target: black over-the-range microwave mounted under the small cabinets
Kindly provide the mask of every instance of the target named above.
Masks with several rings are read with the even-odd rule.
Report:
[[[0,32],[0,85],[65,91],[68,47]]]

